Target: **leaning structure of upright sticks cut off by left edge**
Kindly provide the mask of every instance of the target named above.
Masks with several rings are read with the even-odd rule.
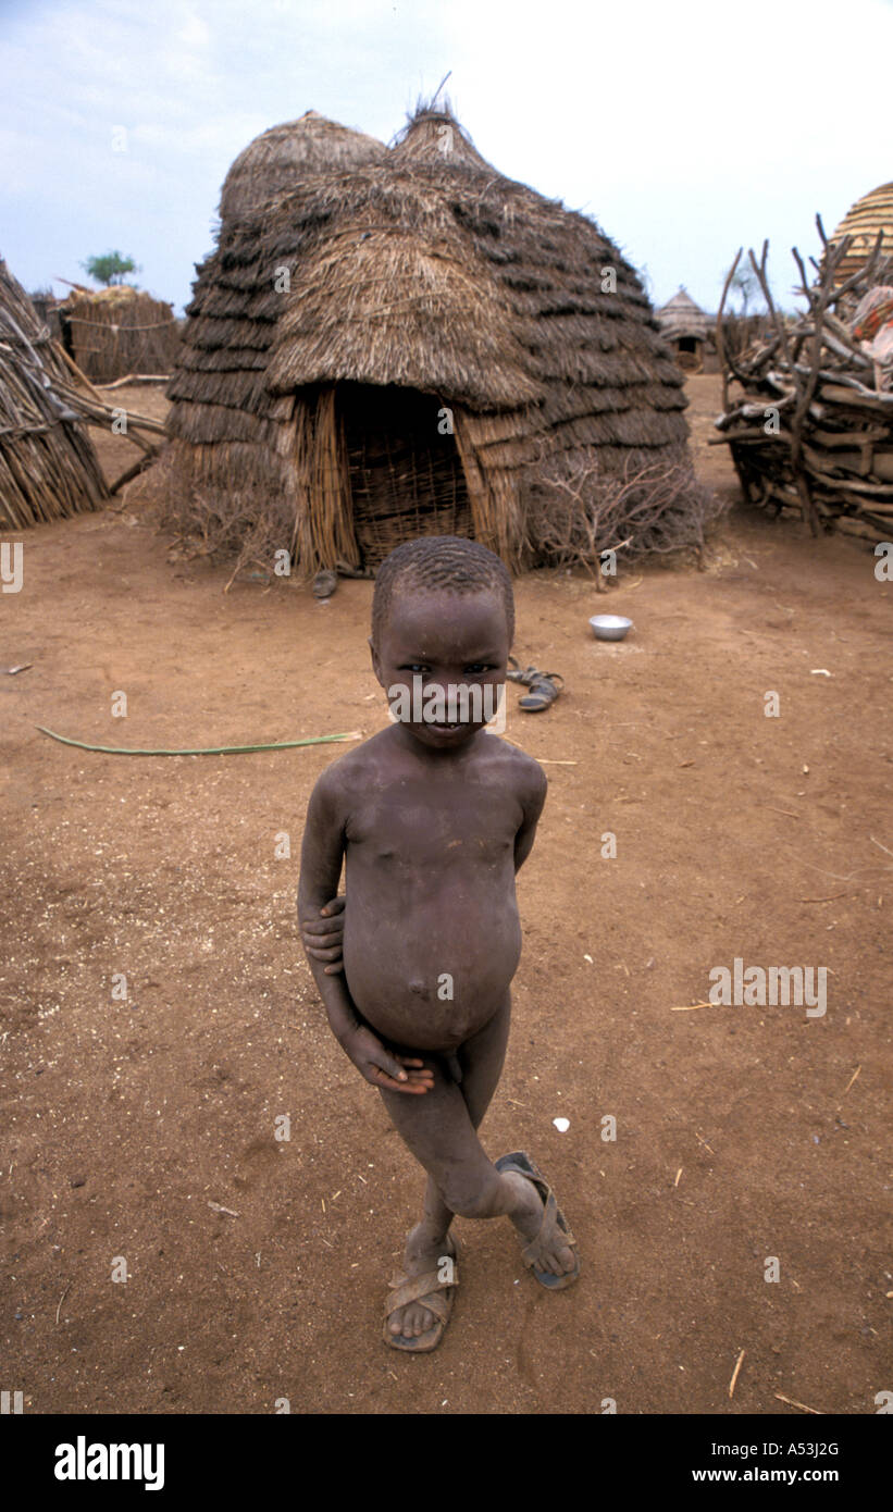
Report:
[[[0,529],[100,508],[97,454],[65,390],[71,373],[0,259]]]

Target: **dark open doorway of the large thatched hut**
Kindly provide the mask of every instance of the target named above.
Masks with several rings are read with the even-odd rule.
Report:
[[[414,389],[338,384],[361,564],[416,535],[473,535],[465,473],[443,404]]]

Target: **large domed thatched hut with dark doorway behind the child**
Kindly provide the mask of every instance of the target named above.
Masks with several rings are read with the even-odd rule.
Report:
[[[373,569],[425,532],[517,565],[550,555],[562,482],[592,552],[626,522],[600,525],[589,494],[688,466],[681,373],[635,271],[449,109],[391,148],[313,112],[266,132],[221,222],[168,390],[174,513],[193,500],[205,538],[237,522],[237,546],[263,514],[304,572]],[[674,529],[691,543],[684,488],[635,544]]]

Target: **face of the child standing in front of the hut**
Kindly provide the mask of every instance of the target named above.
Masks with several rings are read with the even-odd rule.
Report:
[[[369,644],[391,714],[423,745],[464,745],[497,712],[511,649],[497,593],[397,593]]]

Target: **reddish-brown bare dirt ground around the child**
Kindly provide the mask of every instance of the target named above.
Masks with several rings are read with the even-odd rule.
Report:
[[[737,499],[706,445],[718,380],[688,387],[700,470]],[[131,455],[104,443],[109,475]],[[385,1349],[381,1309],[422,1179],[296,939],[302,815],[340,747],[125,758],[35,729],[370,735],[372,585],[224,594],[228,569],[166,553],[136,490],[29,532],[0,602],[0,667],[33,662],[0,677],[3,1387],[26,1412],[875,1412],[893,661],[864,544],[737,505],[706,572],[636,569],[600,599],[518,581],[515,653],[567,691],[539,717],[509,692],[550,795],[482,1134],[544,1167],[583,1275],[550,1296],[508,1223],[458,1220],[453,1318],[417,1358]],[[623,644],[589,638],[606,606],[635,620]],[[827,966],[827,1015],[692,1007],[736,957]]]

